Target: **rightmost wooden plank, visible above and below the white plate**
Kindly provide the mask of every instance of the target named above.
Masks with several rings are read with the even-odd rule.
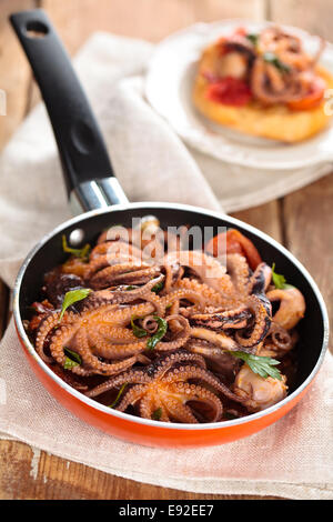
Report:
[[[273,20],[296,24],[311,33],[333,40],[331,0],[273,2]],[[283,201],[283,220],[287,248],[307,268],[326,301],[331,324],[333,320],[333,177],[289,194]]]

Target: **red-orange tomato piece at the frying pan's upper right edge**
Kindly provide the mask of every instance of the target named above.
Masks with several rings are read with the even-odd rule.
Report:
[[[226,242],[226,253],[240,253],[244,255],[252,270],[262,262],[261,255],[252,241],[245,238],[239,230],[230,229],[226,232],[214,235],[205,245],[205,251],[214,258],[222,257],[225,252],[221,251],[221,248]]]

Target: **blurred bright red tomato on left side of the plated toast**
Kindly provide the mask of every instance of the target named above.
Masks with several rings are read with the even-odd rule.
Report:
[[[211,83],[206,97],[225,106],[242,107],[251,100],[251,90],[245,81],[225,77]]]

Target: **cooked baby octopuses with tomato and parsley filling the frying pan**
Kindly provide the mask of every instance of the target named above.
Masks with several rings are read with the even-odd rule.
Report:
[[[181,229],[148,217],[81,249],[62,237],[68,259],[44,274],[24,320],[37,353],[87,396],[158,422],[226,421],[280,402],[302,293],[236,229],[195,250]]]

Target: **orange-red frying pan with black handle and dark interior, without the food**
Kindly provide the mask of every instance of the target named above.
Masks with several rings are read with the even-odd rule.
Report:
[[[87,98],[54,29],[42,10],[12,14],[11,23],[26,51],[53,127],[68,197],[80,215],[50,231],[29,253],[14,285],[13,315],[19,339],[38,378],[64,408],[105,432],[141,444],[159,446],[213,445],[250,435],[278,421],[309,390],[323,362],[329,322],[322,295],[304,267],[281,244],[261,231],[223,213],[171,203],[129,203],[114,177],[110,159]],[[157,165],[158,168],[158,165]],[[61,239],[72,245],[93,243],[112,224],[131,227],[132,218],[155,215],[162,228],[190,225],[234,228],[258,248],[266,263],[279,270],[303,293],[306,315],[301,321],[299,367],[289,395],[278,404],[241,419],[179,424],[144,420],[118,412],[78,392],[39,358],[23,320],[38,300],[42,274],[65,260]]]

